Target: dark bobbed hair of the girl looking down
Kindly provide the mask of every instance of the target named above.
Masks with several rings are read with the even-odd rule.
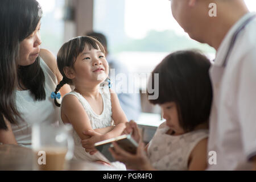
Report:
[[[175,102],[180,126],[187,132],[208,122],[212,104],[209,68],[209,59],[197,51],[171,53],[152,72],[152,81],[154,73],[159,73],[159,97],[150,100],[151,104]]]

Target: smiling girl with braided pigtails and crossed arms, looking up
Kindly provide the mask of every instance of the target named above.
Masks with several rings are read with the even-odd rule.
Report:
[[[73,38],[57,53],[57,65],[63,80],[52,93],[55,104],[60,106],[56,98],[61,86],[70,84],[75,88],[63,97],[59,117],[60,125],[71,123],[73,126],[75,158],[108,163],[94,148],[94,143],[120,135],[127,118],[117,94],[108,84],[100,85],[109,74],[104,47],[89,36]]]

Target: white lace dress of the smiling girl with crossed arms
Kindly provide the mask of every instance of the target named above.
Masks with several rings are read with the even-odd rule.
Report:
[[[109,88],[106,86],[100,87],[100,94],[103,100],[104,109],[100,115],[94,113],[92,110],[92,107],[90,107],[90,104],[84,97],[81,96],[80,93],[72,91],[65,96],[72,94],[73,96],[76,96],[77,99],[80,101],[81,105],[84,107],[89,119],[90,119],[90,125],[92,126],[92,129],[101,129],[104,127],[112,126],[113,125],[113,119],[112,119],[112,106],[111,106],[111,100],[110,100],[110,91]],[[65,97],[64,96],[64,97]],[[63,98],[64,98],[63,97]],[[60,109],[60,115],[59,115],[59,124],[63,125],[63,121],[61,119],[61,109]],[[105,162],[108,162],[108,159],[104,157],[100,152],[97,152],[94,155],[90,155],[88,152],[85,151],[85,148],[82,147],[81,139],[79,135],[77,135],[76,131],[73,130],[73,139],[75,143],[74,148],[74,159],[76,160],[86,160],[88,162],[94,162],[96,160],[102,160]],[[111,163],[114,167],[119,169],[126,169],[125,164],[114,162]]]

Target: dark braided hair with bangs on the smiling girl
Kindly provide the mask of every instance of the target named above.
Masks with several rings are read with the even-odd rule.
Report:
[[[98,40],[90,37],[90,36],[78,36],[77,38],[73,38],[68,42],[64,43],[61,46],[60,50],[57,53],[57,65],[61,75],[63,76],[63,80],[60,81],[60,84],[56,86],[55,94],[59,92],[60,88],[69,84],[72,85],[72,80],[65,76],[63,69],[65,67],[73,68],[76,62],[77,56],[84,51],[85,46],[89,46],[89,49],[99,49],[105,53],[104,47]],[[54,100],[56,106],[60,107],[60,104]]]

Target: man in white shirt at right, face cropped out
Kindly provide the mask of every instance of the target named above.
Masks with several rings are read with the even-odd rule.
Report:
[[[256,14],[243,0],[172,0],[171,8],[192,39],[217,51],[208,141],[217,163],[208,169],[256,169]]]

